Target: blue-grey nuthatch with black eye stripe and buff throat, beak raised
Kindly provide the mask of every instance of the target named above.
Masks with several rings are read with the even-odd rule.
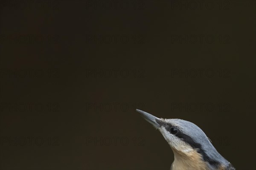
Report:
[[[169,143],[174,153],[170,170],[235,170],[194,123],[183,119],[157,118],[145,111],[136,111]]]

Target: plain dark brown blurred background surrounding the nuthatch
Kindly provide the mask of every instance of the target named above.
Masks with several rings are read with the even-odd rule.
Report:
[[[1,1],[1,169],[169,169],[172,150],[135,108],[194,122],[237,169],[256,168],[255,1],[22,2]]]

